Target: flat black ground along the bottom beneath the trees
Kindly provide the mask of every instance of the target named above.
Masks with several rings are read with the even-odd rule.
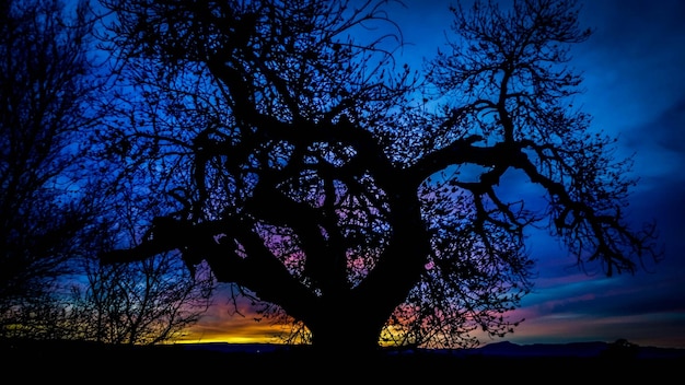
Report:
[[[4,341],[3,378],[14,383],[183,384],[270,382],[328,383],[485,383],[549,384],[566,381],[682,382],[685,355],[637,358],[451,355],[444,352],[321,353],[309,349],[267,352],[187,349],[183,346],[113,347],[89,342]],[[0,380],[2,381],[2,380]],[[2,381],[5,383],[4,381]]]

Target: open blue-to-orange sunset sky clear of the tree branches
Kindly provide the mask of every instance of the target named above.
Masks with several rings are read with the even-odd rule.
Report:
[[[420,67],[444,42],[450,1],[406,0],[388,8],[409,45],[402,55]],[[506,3],[506,2],[502,2]],[[504,338],[481,343],[566,343],[627,339],[640,346],[685,348],[685,1],[585,0],[581,26],[594,30],[572,50],[584,74],[576,101],[592,128],[618,138],[617,156],[635,153],[639,175],[628,218],[636,229],[655,221],[664,259],[635,275],[611,278],[580,270],[554,240],[535,234],[534,289],[513,318],[525,318]],[[466,2],[464,3],[466,4]],[[525,188],[525,186],[522,186]],[[274,342],[280,329],[256,323],[248,307],[232,315],[219,294],[188,342]]]

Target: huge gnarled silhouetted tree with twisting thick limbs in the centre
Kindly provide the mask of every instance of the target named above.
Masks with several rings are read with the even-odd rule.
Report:
[[[181,250],[303,340],[374,349],[511,331],[535,224],[608,275],[659,256],[651,225],[624,222],[629,162],[568,105],[568,46],[588,37],[574,1],[455,9],[464,40],[427,72],[436,112],[393,66],[383,3],[104,0],[125,63],[105,139],[160,212],[103,258]],[[546,210],[512,199],[521,177]]]

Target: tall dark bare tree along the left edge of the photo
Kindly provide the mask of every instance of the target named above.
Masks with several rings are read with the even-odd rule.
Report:
[[[73,12],[59,1],[1,7],[0,334],[20,322],[15,331],[51,335],[40,315],[56,312],[47,301],[78,250],[72,240],[95,214],[78,162],[79,132],[94,121],[85,77],[92,20],[84,2]]]

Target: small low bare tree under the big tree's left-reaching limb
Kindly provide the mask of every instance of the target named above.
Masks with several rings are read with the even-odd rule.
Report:
[[[210,305],[210,272],[188,273],[173,253],[128,266],[93,266],[88,284],[73,287],[72,338],[115,345],[173,341]]]

